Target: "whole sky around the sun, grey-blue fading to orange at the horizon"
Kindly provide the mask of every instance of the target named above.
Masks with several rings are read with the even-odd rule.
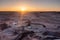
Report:
[[[0,11],[60,11],[60,0],[0,0]]]

